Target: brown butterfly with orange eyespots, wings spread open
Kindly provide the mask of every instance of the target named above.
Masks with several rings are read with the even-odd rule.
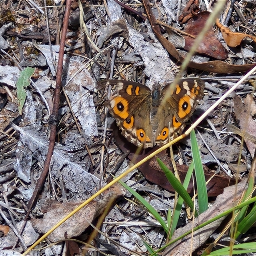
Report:
[[[162,146],[174,139],[202,99],[204,83],[200,79],[183,79],[174,89],[166,85],[147,86],[123,80],[105,80],[116,85],[117,93],[107,101],[110,114],[122,135],[138,147]]]

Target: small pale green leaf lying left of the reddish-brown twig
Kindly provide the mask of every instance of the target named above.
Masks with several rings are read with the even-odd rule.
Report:
[[[30,84],[29,79],[33,75],[34,71],[35,71],[35,68],[30,68],[30,67],[25,68],[23,71],[20,72],[20,76],[16,83],[17,98],[18,98],[18,104],[19,104],[18,109],[19,109],[20,115],[22,114],[22,108],[24,106],[26,96],[27,96],[26,88]]]

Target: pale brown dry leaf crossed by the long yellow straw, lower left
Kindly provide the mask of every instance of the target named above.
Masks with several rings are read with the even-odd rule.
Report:
[[[60,227],[55,229],[48,238],[52,242],[65,239],[67,237],[79,236],[92,221],[99,216],[112,198],[115,200],[120,196],[124,196],[124,188],[120,184],[115,184],[101,194],[101,197],[96,198],[91,203],[87,204],[76,212],[72,217],[66,220]],[[51,205],[45,207],[46,213],[43,219],[32,219],[34,228],[39,233],[46,233],[56,223],[72,212],[80,203],[57,203],[52,202]]]

